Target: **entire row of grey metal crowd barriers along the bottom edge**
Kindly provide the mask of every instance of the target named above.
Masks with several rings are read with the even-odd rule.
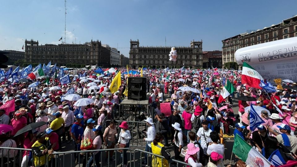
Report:
[[[5,148],[5,147],[0,147],[1,152],[4,152],[5,150],[13,150],[14,152],[17,151],[18,152],[18,156],[15,157],[10,157],[11,160],[8,162],[4,162],[3,161],[3,157],[1,158],[1,166],[7,166],[7,167],[21,167],[22,161],[23,161],[23,152],[24,151],[31,151],[31,149],[24,149],[24,148]],[[141,162],[142,162],[142,157],[144,153],[147,153],[149,155],[151,155],[152,158],[161,158],[161,161],[163,161],[163,159],[165,159],[163,156],[157,155],[157,154],[153,154],[151,152],[146,152],[144,150],[140,150],[140,149],[135,149],[133,152],[131,151],[130,148],[113,148],[113,149],[100,149],[100,150],[84,150],[84,151],[67,151],[67,152],[53,152],[53,155],[51,155],[54,158],[54,161],[50,161],[50,163],[45,163],[44,167],[73,167],[73,166],[88,166],[87,164],[90,162],[89,157],[95,152],[101,152],[100,155],[100,166],[118,166],[123,164],[123,158],[122,158],[122,153],[118,152],[119,150],[127,150],[127,162],[129,163],[130,167],[138,167],[141,166]],[[114,157],[115,157],[115,162],[110,162],[110,155],[108,154],[108,163],[105,162],[105,159],[103,157],[105,157],[105,153],[107,151],[114,151]],[[140,154],[137,154],[137,152],[140,152]],[[81,156],[80,154],[85,153],[84,156]],[[79,155],[78,156],[78,164],[75,164],[75,160],[74,160],[74,154]],[[133,156],[132,156],[133,154]],[[140,157],[139,157],[140,156]],[[154,156],[154,157],[153,157]],[[32,157],[32,159],[34,159],[34,155]],[[45,157],[46,158],[46,162],[48,162],[49,160],[49,156]],[[105,157],[106,158],[106,157]],[[39,157],[38,157],[39,160]],[[26,159],[25,164],[28,164],[28,162],[31,160]],[[92,166],[95,166],[95,159],[92,160],[93,164]],[[177,161],[174,159],[170,159],[169,161],[169,166],[170,166],[170,162],[176,162],[177,165],[179,166],[179,164],[182,164],[183,166],[189,165],[185,162],[182,161]],[[39,161],[40,162],[40,161]],[[157,164],[152,164],[152,160],[149,159],[148,156],[148,165],[152,166],[152,167],[162,167],[162,165],[157,165]],[[25,165],[27,166],[27,165]],[[34,161],[32,162],[32,166],[34,166]],[[121,165],[122,166],[122,165]]]

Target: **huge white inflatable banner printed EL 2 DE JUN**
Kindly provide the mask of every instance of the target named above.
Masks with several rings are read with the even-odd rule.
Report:
[[[297,37],[238,49],[235,59],[238,64],[247,62],[264,79],[297,81]]]

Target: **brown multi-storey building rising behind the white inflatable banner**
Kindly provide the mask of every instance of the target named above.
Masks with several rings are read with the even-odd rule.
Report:
[[[227,62],[235,61],[235,52],[239,48],[257,45],[265,42],[276,41],[297,36],[297,15],[283,20],[281,23],[265,27],[261,30],[245,32],[222,41],[223,43],[223,68]],[[239,66],[242,69],[242,66]]]

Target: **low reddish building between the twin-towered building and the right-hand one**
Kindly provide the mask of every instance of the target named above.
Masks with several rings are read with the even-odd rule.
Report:
[[[222,51],[204,51],[203,68],[222,68]]]

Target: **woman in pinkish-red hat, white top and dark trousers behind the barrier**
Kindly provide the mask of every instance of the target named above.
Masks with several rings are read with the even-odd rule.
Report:
[[[119,127],[122,128],[122,131],[120,132],[117,146],[119,147],[120,144],[125,144],[125,148],[129,148],[131,139],[130,131],[128,130],[129,126],[126,121],[123,121]],[[127,167],[127,150],[123,150],[122,156],[123,166]]]

